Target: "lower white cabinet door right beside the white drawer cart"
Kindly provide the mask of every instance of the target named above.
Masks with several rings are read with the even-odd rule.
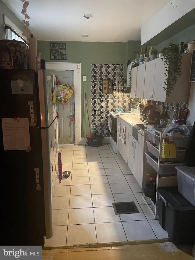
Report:
[[[135,141],[135,158],[134,158],[134,177],[142,187],[142,175],[143,175],[143,145]]]

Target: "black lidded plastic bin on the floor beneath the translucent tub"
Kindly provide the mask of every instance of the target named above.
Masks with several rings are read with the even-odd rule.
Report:
[[[157,188],[158,221],[174,244],[195,243],[195,207],[178,187]]]

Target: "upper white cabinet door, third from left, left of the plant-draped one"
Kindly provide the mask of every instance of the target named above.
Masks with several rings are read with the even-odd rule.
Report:
[[[144,98],[152,100],[152,94],[154,90],[154,75],[155,75],[155,66],[156,59],[146,62],[145,70],[145,82],[144,82]]]

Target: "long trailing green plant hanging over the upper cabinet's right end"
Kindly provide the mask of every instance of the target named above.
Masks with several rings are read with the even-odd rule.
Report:
[[[164,56],[161,58],[164,61],[165,73],[165,91],[169,96],[174,89],[177,77],[181,72],[181,59],[182,56],[179,52],[179,44],[169,43],[169,47],[164,49]]]

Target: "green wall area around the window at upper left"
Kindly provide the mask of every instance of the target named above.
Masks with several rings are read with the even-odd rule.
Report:
[[[21,11],[23,3],[21,3]],[[23,31],[23,23],[12,13],[12,11],[0,0],[0,39],[5,39],[5,30],[4,30],[4,14],[12,21],[21,31]]]

